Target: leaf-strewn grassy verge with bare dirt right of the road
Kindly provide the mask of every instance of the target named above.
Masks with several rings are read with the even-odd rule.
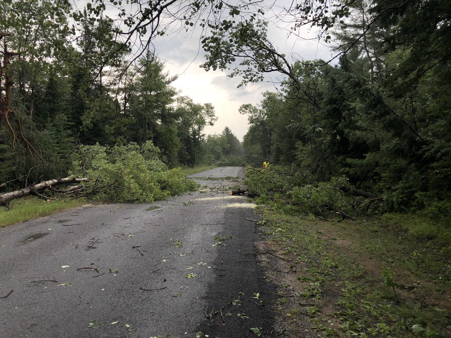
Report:
[[[296,328],[297,306],[318,337],[451,337],[450,243],[413,236],[411,219],[322,222],[263,209],[265,243],[290,260],[279,268],[288,274],[274,279],[290,278],[298,294],[279,300],[285,326],[304,330]]]

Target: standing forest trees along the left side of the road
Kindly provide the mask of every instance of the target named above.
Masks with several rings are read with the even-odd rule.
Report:
[[[147,48],[133,64],[129,48],[113,53],[106,42],[111,21],[93,19],[91,4],[79,17],[67,1],[1,6],[9,15],[0,20],[0,192],[86,175],[77,169],[80,154],[96,153],[86,146],[101,146],[109,156],[126,145],[137,145],[144,157],[153,149],[161,168],[243,155],[230,128],[206,135],[217,120],[214,107],[180,96],[172,86],[176,76],[155,51]]]

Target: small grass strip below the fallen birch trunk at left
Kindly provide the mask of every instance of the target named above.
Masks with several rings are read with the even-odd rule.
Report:
[[[28,196],[11,201],[10,208],[0,207],[0,228],[10,224],[24,222],[41,216],[53,214],[57,211],[81,206],[85,199],[72,201],[46,202],[35,196]]]

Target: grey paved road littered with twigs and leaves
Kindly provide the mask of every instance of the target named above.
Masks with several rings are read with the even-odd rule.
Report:
[[[1,229],[0,337],[255,337],[256,326],[276,335],[273,313],[252,299],[275,289],[246,255],[259,238],[246,220],[253,204],[227,194],[238,180],[221,178],[243,174],[208,170],[193,175],[198,192],[168,201],[84,206]],[[89,328],[94,320],[105,325]]]

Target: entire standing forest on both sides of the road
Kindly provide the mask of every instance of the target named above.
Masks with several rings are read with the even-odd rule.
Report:
[[[448,1],[293,3],[280,17],[292,23],[288,34],[312,27],[318,41],[335,42],[330,60],[310,61],[273,45],[260,2],[175,3],[127,14],[113,2],[123,26],[100,0],[84,9],[65,0],[2,4],[3,191],[74,173],[71,154],[83,145],[152,142],[168,168],[268,157],[311,182],[345,177],[382,196],[384,210],[449,214]],[[206,136],[214,107],[172,87],[175,77],[151,48],[171,27],[159,21],[165,14],[182,31],[202,27],[206,70],[229,71],[242,85],[284,77],[260,105],[240,108],[249,117],[244,147],[229,128]]]

